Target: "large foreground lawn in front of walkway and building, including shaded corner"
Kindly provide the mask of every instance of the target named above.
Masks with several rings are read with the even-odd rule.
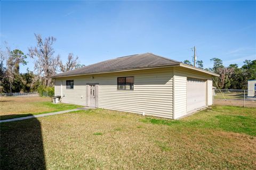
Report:
[[[167,120],[95,109],[1,123],[1,169],[255,169],[256,109]]]

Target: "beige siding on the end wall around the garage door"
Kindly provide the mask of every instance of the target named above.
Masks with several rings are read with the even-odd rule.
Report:
[[[174,118],[187,114],[187,77],[205,79],[207,82],[206,103],[212,105],[212,77],[203,72],[175,67],[174,69]],[[210,95],[210,96],[209,96]]]

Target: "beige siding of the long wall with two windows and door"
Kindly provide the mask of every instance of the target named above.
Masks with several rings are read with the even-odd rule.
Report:
[[[92,79],[93,77],[93,79]],[[134,77],[134,90],[117,90],[117,77]],[[86,105],[86,83],[99,83],[99,108],[173,118],[173,69],[150,69],[57,78],[63,103]],[[74,80],[74,89],[66,89]]]

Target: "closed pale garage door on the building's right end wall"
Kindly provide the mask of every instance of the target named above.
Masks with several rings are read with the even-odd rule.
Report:
[[[206,81],[187,78],[187,112],[206,106]]]

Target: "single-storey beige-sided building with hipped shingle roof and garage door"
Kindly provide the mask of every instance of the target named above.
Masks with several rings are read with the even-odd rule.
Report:
[[[165,118],[212,105],[218,74],[152,53],[118,57],[53,75],[62,103]]]

